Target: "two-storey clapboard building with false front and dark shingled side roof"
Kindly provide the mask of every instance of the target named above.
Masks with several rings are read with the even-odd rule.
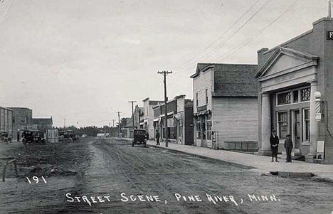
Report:
[[[256,72],[257,65],[198,63],[191,75],[196,146],[234,149],[258,141]]]

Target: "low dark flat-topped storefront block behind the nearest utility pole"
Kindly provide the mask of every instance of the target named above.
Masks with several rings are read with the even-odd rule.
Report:
[[[174,97],[166,103],[168,139],[177,144],[194,144],[193,102],[185,99],[185,95]],[[165,108],[159,103],[154,109],[154,134],[159,131],[161,139],[165,139]]]

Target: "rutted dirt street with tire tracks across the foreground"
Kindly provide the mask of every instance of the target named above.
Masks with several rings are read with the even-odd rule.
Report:
[[[20,176],[15,178],[13,166],[8,168],[6,182],[1,182],[0,213],[333,211],[332,183],[260,176],[221,161],[154,146],[132,147],[130,141],[2,146],[1,156],[18,158]]]

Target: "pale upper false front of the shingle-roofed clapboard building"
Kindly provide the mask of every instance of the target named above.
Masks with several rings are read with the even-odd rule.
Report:
[[[206,70],[200,73],[199,76],[194,77],[194,113],[196,113],[196,93],[198,93],[199,106],[206,105],[206,89],[208,90],[208,105],[207,109],[211,109],[211,70]]]

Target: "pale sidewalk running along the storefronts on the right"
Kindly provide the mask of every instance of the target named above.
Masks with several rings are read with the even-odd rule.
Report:
[[[147,141],[147,144],[150,146],[156,146],[156,141]],[[284,159],[279,159],[280,162],[277,163],[270,162],[272,158],[269,156],[258,156],[226,150],[214,150],[198,146],[174,144],[170,142],[167,148],[165,147],[164,142],[161,142],[161,145],[157,147],[248,166],[251,168],[250,171],[255,171],[260,174],[269,173],[270,171],[314,173],[314,175],[319,178],[333,181],[332,165],[310,164],[304,161],[292,161],[292,163],[285,163]]]

